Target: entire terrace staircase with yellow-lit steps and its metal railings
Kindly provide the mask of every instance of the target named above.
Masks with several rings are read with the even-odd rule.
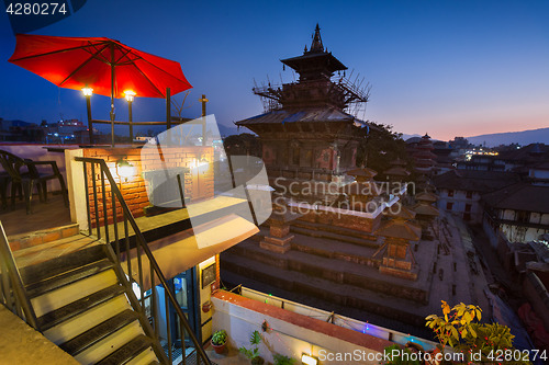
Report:
[[[0,303],[81,364],[171,365],[176,361],[173,355],[178,352],[177,346],[182,347],[179,349],[182,356],[178,363],[186,364],[184,339],[190,340],[197,352],[193,363],[211,364],[105,162],[101,159],[83,158],[81,161],[85,172],[91,167],[92,175],[99,171],[101,179],[103,239],[98,218],[96,235],[77,235],[51,242],[43,248],[54,251],[61,248],[59,251],[63,251],[63,254],[16,264],[0,223]],[[96,167],[99,169],[96,170]],[[114,209],[114,215],[111,215],[114,216],[114,221],[111,225],[105,218],[105,180],[110,185],[110,203],[112,202],[111,207]],[[98,186],[94,180],[92,187],[94,212],[99,212]],[[122,210],[122,232],[119,232],[117,228],[116,207]],[[89,206],[88,221],[89,233],[92,233]],[[132,239],[128,226],[133,231]],[[109,230],[114,233],[112,242],[109,240]],[[64,248],[70,248],[69,252],[65,252]],[[125,262],[127,267],[123,266],[121,260],[124,256],[132,256],[132,260]],[[133,270],[132,261],[137,266]],[[160,318],[155,289],[149,298],[150,311],[145,313],[143,285],[139,285],[139,293],[134,293],[132,287],[134,283],[143,283],[144,276],[152,280],[150,287],[163,286],[166,307],[170,305],[176,310],[181,341],[171,339],[170,316]],[[158,283],[155,283],[155,280]],[[161,326],[165,328],[160,329]],[[168,333],[164,347],[159,341],[160,332]]]

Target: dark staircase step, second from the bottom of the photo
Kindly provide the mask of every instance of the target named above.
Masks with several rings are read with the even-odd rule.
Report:
[[[76,356],[77,354],[81,353],[82,351],[90,347],[94,343],[109,337],[111,333],[135,321],[138,317],[139,316],[135,311],[126,309],[120,312],[119,315],[83,332],[82,334],[77,335],[76,338],[60,344],[59,347],[61,347],[65,352],[69,353],[70,355]]]

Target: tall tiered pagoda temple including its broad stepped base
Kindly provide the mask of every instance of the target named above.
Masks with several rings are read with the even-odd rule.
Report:
[[[407,181],[405,161],[381,173],[357,166],[361,138],[374,126],[352,111],[368,102],[368,89],[346,81],[347,67],[326,50],[318,26],[302,55],[281,61],[299,79],[254,88],[265,113],[236,123],[262,142],[273,213],[260,232],[222,253],[224,283],[423,330],[429,303],[438,301],[437,246],[418,242],[416,213],[403,206],[406,185],[388,183]]]

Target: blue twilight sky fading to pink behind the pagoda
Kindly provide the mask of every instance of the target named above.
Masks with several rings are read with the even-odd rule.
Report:
[[[177,60],[194,87],[186,115],[200,115],[205,93],[208,112],[229,125],[262,113],[254,78],[292,80],[279,59],[301,55],[318,22],[324,46],[373,85],[366,118],[450,139],[549,126],[548,19],[549,1],[533,0],[88,0],[33,33],[107,36]],[[0,38],[0,117],[86,117],[81,92],[7,61],[15,38],[3,8]],[[126,118],[125,102],[116,105]],[[164,107],[136,98],[134,119],[163,121]],[[92,110],[108,119],[109,98],[93,96]]]

